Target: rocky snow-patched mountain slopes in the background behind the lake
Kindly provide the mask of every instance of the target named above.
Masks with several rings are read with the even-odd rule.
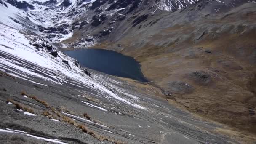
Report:
[[[103,21],[115,19],[123,21],[131,13],[139,11],[148,11],[156,13],[157,11],[175,11],[186,7],[188,4],[197,2],[197,0],[159,0],[156,3],[146,0],[2,0],[6,8],[4,13],[16,14],[14,21],[32,22],[29,24],[32,28],[40,31],[42,35],[52,43],[59,43],[62,40],[71,38],[74,31],[81,31],[84,27],[94,29],[101,27]],[[146,9],[145,9],[146,8]],[[24,20],[26,19],[26,20]],[[4,24],[6,21],[2,21]],[[27,25],[27,24],[24,24]],[[86,26],[88,25],[88,26]],[[93,26],[91,28],[91,26]],[[105,27],[105,26],[102,26]],[[98,40],[108,35],[111,29],[101,29],[101,34],[75,35],[72,42],[65,42],[62,47],[88,47],[95,45]]]

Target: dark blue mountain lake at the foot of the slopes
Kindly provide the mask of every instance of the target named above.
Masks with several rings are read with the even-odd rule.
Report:
[[[64,53],[77,59],[83,67],[109,75],[147,82],[141,72],[141,65],[130,56],[103,49],[79,49],[64,51]]]

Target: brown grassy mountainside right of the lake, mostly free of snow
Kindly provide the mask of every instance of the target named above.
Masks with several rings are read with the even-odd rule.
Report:
[[[190,111],[255,133],[255,4],[205,0],[137,14],[97,47],[135,57],[153,84]]]

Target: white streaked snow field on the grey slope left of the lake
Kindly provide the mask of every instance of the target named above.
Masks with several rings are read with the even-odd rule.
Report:
[[[8,32],[8,33],[7,33]],[[49,54],[48,50],[37,49],[31,45],[30,40],[35,36],[21,34],[21,31],[0,24],[0,69],[23,79],[34,81],[34,77],[41,78],[53,84],[71,84],[78,87],[94,85],[93,90],[105,98],[114,98],[136,108],[145,109],[131,99],[126,99],[112,93],[102,80],[84,75],[83,68],[74,64],[75,60],[64,53],[58,52],[57,57]],[[40,43],[40,41],[38,42]],[[65,62],[64,62],[65,61]],[[99,83],[101,82],[101,83]],[[105,83],[105,85],[108,85]]]

